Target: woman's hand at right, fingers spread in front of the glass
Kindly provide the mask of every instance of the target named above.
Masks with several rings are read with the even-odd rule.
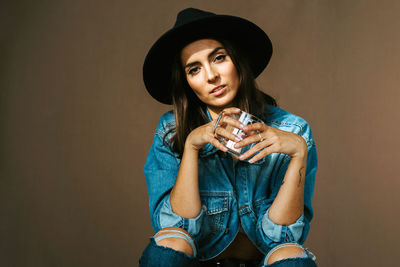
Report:
[[[259,143],[243,153],[239,157],[240,160],[247,159],[257,152],[259,153],[249,160],[250,163],[254,163],[271,153],[283,153],[292,159],[304,159],[307,156],[306,141],[297,134],[282,131],[264,123],[247,125],[243,130],[248,137],[238,142],[235,148],[241,148],[256,142]]]

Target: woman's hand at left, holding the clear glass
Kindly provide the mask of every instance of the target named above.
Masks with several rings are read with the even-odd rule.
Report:
[[[240,109],[226,108],[221,113],[222,115],[220,114],[221,118],[218,121],[217,126],[215,125],[217,123],[217,119],[214,119],[207,124],[197,127],[186,138],[185,146],[189,146],[190,148],[199,151],[207,143],[210,143],[216,148],[227,152],[228,148],[221,144],[217,136],[228,138],[234,142],[239,142],[241,139],[236,137],[234,134],[229,133],[224,129],[224,127],[221,126],[229,124],[236,128],[243,129],[244,126],[239,121],[229,116],[230,114],[240,113]]]

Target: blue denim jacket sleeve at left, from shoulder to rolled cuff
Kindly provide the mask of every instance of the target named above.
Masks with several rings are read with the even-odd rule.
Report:
[[[170,203],[170,192],[178,175],[179,158],[163,142],[163,125],[160,122],[153,144],[144,166],[149,194],[150,220],[158,232],[164,227],[180,227],[192,236],[199,233],[203,211],[196,218],[182,218],[174,213]]]

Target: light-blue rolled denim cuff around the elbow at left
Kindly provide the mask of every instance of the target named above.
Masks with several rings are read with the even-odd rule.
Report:
[[[183,218],[172,211],[170,196],[168,196],[160,209],[159,221],[161,228],[180,227],[186,230],[191,236],[195,236],[200,232],[203,220],[204,209],[200,210],[200,214],[195,218]]]

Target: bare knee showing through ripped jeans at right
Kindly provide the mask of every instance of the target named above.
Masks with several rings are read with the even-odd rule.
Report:
[[[302,246],[296,243],[281,244],[273,248],[265,258],[267,265],[290,258],[307,258],[308,253]]]

